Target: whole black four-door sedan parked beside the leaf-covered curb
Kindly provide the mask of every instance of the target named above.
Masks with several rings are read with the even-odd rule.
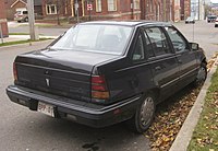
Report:
[[[153,121],[156,105],[207,77],[206,57],[171,24],[87,22],[45,49],[19,55],[14,103],[92,127],[126,121],[136,132]]]

